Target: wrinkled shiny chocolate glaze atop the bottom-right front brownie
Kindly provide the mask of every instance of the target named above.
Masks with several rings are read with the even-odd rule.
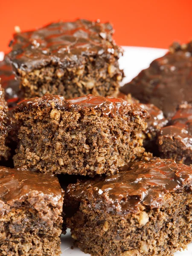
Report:
[[[116,175],[70,184],[66,198],[88,200],[96,209],[125,214],[137,212],[141,204],[160,208],[165,194],[184,187],[191,190],[192,168],[174,160],[147,157],[119,171]]]

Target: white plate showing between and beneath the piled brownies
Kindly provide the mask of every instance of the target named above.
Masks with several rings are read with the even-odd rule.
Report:
[[[123,84],[131,81],[137,74],[147,68],[151,61],[161,57],[166,53],[166,49],[144,48],[144,47],[123,47],[124,55],[119,60],[120,68],[124,69],[125,79]],[[0,60],[3,59],[3,52],[0,52]],[[61,236],[61,256],[84,256],[89,255],[81,252],[78,248],[72,250],[73,239],[70,236],[70,230],[67,230],[66,235]],[[191,256],[192,244],[189,244],[188,250],[177,252],[175,256]]]

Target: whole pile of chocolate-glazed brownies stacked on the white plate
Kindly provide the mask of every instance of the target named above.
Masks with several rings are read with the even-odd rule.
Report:
[[[192,241],[192,43],[120,88],[112,35],[88,20],[17,31],[0,62],[0,157],[17,143],[15,169],[0,167],[0,255],[59,256],[66,226],[92,256]]]

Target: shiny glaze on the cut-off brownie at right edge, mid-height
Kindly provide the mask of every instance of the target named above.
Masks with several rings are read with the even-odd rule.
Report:
[[[160,135],[178,137],[183,145],[192,149],[192,105],[180,105],[169,125],[161,129]]]

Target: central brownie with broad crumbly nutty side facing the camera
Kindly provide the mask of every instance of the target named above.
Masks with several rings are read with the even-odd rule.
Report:
[[[148,113],[123,99],[91,94],[66,100],[46,94],[21,102],[15,166],[79,175],[113,174],[144,148]]]

